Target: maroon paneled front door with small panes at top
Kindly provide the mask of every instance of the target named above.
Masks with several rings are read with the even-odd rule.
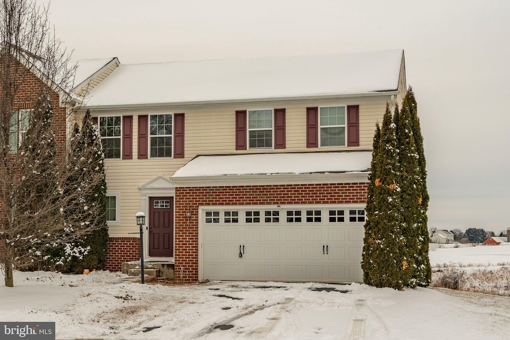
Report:
[[[149,199],[149,256],[173,256],[173,197]]]

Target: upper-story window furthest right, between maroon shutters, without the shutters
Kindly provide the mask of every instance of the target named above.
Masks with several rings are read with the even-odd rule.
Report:
[[[320,146],[345,146],[345,106],[319,109]]]

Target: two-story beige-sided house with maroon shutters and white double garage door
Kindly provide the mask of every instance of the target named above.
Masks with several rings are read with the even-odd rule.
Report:
[[[375,123],[406,90],[402,50],[124,65],[80,63],[103,139],[108,269],[361,282]]]

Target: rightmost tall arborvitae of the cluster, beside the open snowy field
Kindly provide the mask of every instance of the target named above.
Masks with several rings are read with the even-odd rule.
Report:
[[[404,109],[404,106],[407,108],[406,110],[409,110],[410,114],[411,129],[416,145],[417,163],[419,168],[419,179],[416,188],[419,195],[420,205],[417,212],[416,230],[418,233],[418,241],[420,242],[421,246],[417,249],[415,258],[416,266],[418,269],[416,273],[417,275],[415,276],[415,283],[419,286],[426,287],[430,284],[430,277],[432,274],[430,268],[430,260],[428,257],[428,244],[430,240],[427,227],[427,211],[430,198],[427,191],[426,160],[423,146],[423,136],[421,134],[420,119],[418,117],[418,104],[416,102],[415,95],[411,86],[405,94],[405,98],[402,103],[402,109]]]

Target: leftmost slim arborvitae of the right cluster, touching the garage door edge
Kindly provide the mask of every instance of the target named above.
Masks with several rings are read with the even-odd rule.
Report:
[[[375,178],[380,178],[376,169],[379,167],[376,164],[379,152],[381,138],[381,129],[379,122],[375,124],[375,134],[372,143],[372,161],[370,164],[370,173],[368,174],[368,195],[367,195],[367,206],[365,208],[367,219],[365,221],[365,237],[363,238],[363,261],[361,268],[363,269],[363,282],[371,285],[371,277],[374,275],[374,247],[375,242],[375,231],[374,228],[377,226],[377,215],[376,206],[374,201],[375,194]]]

